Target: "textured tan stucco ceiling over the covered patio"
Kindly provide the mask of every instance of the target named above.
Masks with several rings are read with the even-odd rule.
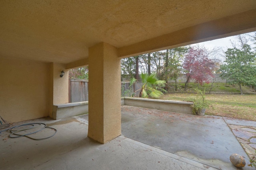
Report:
[[[0,57],[72,63],[96,43],[126,47],[250,10],[256,0],[1,0]]]

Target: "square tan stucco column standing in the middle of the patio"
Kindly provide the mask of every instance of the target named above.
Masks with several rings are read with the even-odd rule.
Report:
[[[121,75],[117,49],[107,43],[89,48],[88,137],[107,143],[121,135]]]

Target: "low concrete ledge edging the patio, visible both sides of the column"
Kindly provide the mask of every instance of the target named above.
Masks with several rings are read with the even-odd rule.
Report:
[[[144,107],[148,109],[157,109],[172,111],[176,113],[192,114],[192,102],[180,102],[174,100],[158,100],[144,98],[122,97],[121,106]],[[53,106],[52,118],[62,119],[88,113],[88,102],[75,102],[67,104],[57,104]]]

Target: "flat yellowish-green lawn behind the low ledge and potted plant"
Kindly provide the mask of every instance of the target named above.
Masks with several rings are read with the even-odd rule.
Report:
[[[215,91],[214,91],[215,92]],[[256,121],[256,94],[206,94],[206,99],[213,108],[206,110],[206,115],[216,115]],[[163,100],[186,101],[195,94],[172,93],[162,95]]]

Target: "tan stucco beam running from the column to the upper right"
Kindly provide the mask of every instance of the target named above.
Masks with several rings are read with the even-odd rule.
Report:
[[[131,57],[252,31],[256,31],[256,9],[120,47],[118,57]]]

